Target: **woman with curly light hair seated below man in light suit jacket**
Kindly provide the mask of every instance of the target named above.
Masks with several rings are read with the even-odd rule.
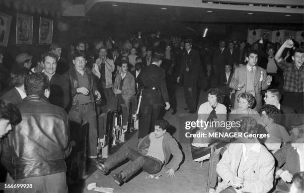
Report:
[[[261,116],[255,110],[253,110],[253,105],[255,98],[249,92],[242,92],[237,95],[238,108],[233,109],[229,115],[228,120],[233,121],[239,117],[250,116],[254,118],[258,124],[261,124]]]

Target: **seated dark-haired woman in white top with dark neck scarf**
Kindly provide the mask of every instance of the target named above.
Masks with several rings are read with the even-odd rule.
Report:
[[[201,104],[198,110],[198,120],[202,120],[203,122],[207,121],[226,121],[227,116],[227,108],[222,104],[223,95],[221,91],[217,88],[211,88],[208,90],[208,101]],[[216,127],[208,127],[207,128],[199,128],[194,129],[193,132],[214,132],[218,128]],[[200,144],[209,143],[211,138],[209,137],[197,137],[192,141],[193,146],[201,146]],[[204,145],[203,145],[204,146]]]

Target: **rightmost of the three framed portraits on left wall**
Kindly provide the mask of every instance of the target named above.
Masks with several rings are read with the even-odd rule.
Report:
[[[52,44],[53,20],[40,17],[39,24],[39,45]]]

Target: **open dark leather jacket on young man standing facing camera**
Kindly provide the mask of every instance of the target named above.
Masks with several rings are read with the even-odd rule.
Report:
[[[94,78],[94,74],[88,69],[84,68],[85,73],[87,74],[88,81],[89,81],[89,88],[90,91],[90,99],[91,102],[94,103],[94,92],[98,89],[96,87],[96,80]],[[65,74],[66,78],[70,81],[71,86],[71,96],[72,96],[72,105],[78,106],[79,105],[79,93],[77,93],[76,89],[79,87],[77,75],[76,75],[76,69],[75,67],[71,67],[69,71],[67,71]]]

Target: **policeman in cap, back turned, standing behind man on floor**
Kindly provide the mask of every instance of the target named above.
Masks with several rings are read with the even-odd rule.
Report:
[[[154,130],[154,122],[165,103],[165,110],[170,109],[169,97],[165,82],[165,71],[160,64],[163,54],[155,53],[152,64],[143,68],[137,77],[139,89],[142,88],[140,104],[141,119],[139,122],[139,138],[143,138]]]

